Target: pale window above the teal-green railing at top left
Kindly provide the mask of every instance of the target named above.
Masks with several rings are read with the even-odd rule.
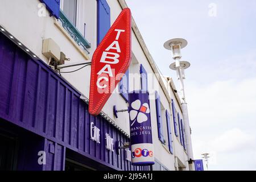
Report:
[[[69,21],[77,26],[77,0],[63,0],[63,12]]]

